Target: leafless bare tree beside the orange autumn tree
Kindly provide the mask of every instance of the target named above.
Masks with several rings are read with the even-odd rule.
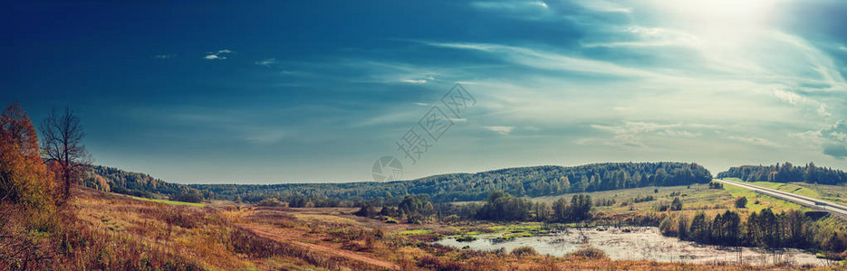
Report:
[[[82,170],[91,164],[91,156],[82,145],[85,131],[80,118],[73,110],[53,108],[41,126],[42,154],[44,162],[58,166],[59,180],[63,185],[63,200],[71,198],[71,185],[82,176]]]

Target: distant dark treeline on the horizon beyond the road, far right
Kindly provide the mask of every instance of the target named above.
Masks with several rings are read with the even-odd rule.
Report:
[[[829,167],[818,167],[814,163],[798,166],[786,162],[775,165],[736,166],[718,173],[717,178],[738,178],[745,182],[809,182],[835,185],[847,182],[847,173]]]

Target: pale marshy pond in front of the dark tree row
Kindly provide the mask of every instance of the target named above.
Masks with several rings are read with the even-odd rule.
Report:
[[[579,248],[592,246],[606,252],[615,260],[655,260],[673,263],[739,263],[749,265],[773,265],[775,262],[789,261],[795,265],[822,266],[823,259],[800,249],[784,249],[780,253],[771,253],[759,248],[738,248],[698,245],[678,238],[662,236],[655,227],[626,228],[583,228],[563,229],[561,231],[535,237],[514,238],[505,242],[496,242],[498,234],[477,235],[476,240],[459,242],[456,238],[443,238],[436,243],[454,248],[477,250],[496,250],[504,248],[506,252],[523,246],[535,248],[538,253],[561,257]]]

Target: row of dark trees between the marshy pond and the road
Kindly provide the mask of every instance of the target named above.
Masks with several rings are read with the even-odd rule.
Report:
[[[822,226],[823,225],[823,226]],[[698,212],[693,218],[685,215],[666,217],[659,224],[665,236],[702,244],[745,246],[759,248],[820,248],[841,253],[845,237],[840,230],[814,223],[803,211],[787,210],[775,213],[765,209],[751,213],[746,220],[732,210],[714,218]]]

